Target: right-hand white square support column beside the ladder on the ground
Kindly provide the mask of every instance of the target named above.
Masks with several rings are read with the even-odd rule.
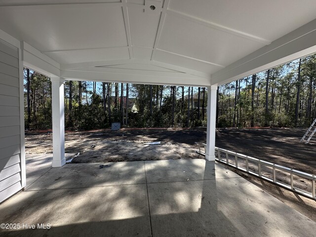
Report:
[[[217,84],[208,86],[207,92],[207,135],[205,158],[207,160],[215,160]]]

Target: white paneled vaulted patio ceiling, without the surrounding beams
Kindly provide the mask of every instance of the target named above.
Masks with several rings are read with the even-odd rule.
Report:
[[[315,18],[315,0],[0,0],[0,29],[61,65],[198,76]]]

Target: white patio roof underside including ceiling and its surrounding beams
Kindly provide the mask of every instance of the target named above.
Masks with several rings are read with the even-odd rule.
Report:
[[[0,0],[0,38],[47,76],[209,86],[315,53],[315,18],[314,0]]]

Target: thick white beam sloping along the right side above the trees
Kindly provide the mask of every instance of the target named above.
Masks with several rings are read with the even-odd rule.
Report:
[[[316,19],[214,73],[212,84],[228,83],[315,52]]]

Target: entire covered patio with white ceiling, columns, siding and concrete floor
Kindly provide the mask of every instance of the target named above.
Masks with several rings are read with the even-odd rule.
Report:
[[[214,160],[217,86],[315,52],[315,0],[0,0],[0,221],[51,225],[0,231],[313,236],[315,222]],[[52,162],[33,183],[23,67],[52,83]],[[206,160],[65,165],[65,80],[207,87]]]

